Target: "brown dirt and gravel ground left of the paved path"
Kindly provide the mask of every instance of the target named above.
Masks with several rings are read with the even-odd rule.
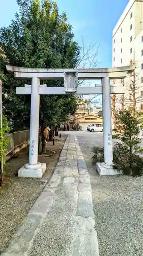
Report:
[[[64,136],[55,141],[54,146],[51,142],[47,143],[47,149],[56,152],[52,156],[39,156],[39,162],[47,164],[47,171],[42,179],[24,179],[16,176],[18,169],[28,161],[28,148],[22,150],[18,158],[8,162],[5,183],[0,188],[0,254],[51,178],[65,139]]]

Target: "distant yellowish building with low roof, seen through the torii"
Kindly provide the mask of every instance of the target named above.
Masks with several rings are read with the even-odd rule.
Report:
[[[92,123],[103,124],[103,118],[97,115],[85,115],[83,117],[77,117],[77,123],[83,127],[83,131],[86,131],[88,125]]]

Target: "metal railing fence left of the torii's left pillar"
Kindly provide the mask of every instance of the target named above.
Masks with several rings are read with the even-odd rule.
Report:
[[[9,140],[7,154],[14,152],[14,148],[30,140],[30,130],[14,132],[6,135]]]

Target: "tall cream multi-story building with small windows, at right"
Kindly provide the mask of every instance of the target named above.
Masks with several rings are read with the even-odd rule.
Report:
[[[135,73],[124,80],[114,80],[125,86],[126,94],[116,98],[116,108],[132,104],[130,87],[135,84],[136,108],[143,110],[143,0],[130,0],[112,33],[112,67],[135,63]],[[124,102],[123,102],[124,100]]]

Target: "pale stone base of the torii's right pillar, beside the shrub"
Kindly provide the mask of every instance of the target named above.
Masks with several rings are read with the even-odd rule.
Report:
[[[100,176],[113,176],[122,174],[122,172],[118,172],[116,169],[114,169],[112,165],[105,164],[104,162],[97,163],[96,170]]]

